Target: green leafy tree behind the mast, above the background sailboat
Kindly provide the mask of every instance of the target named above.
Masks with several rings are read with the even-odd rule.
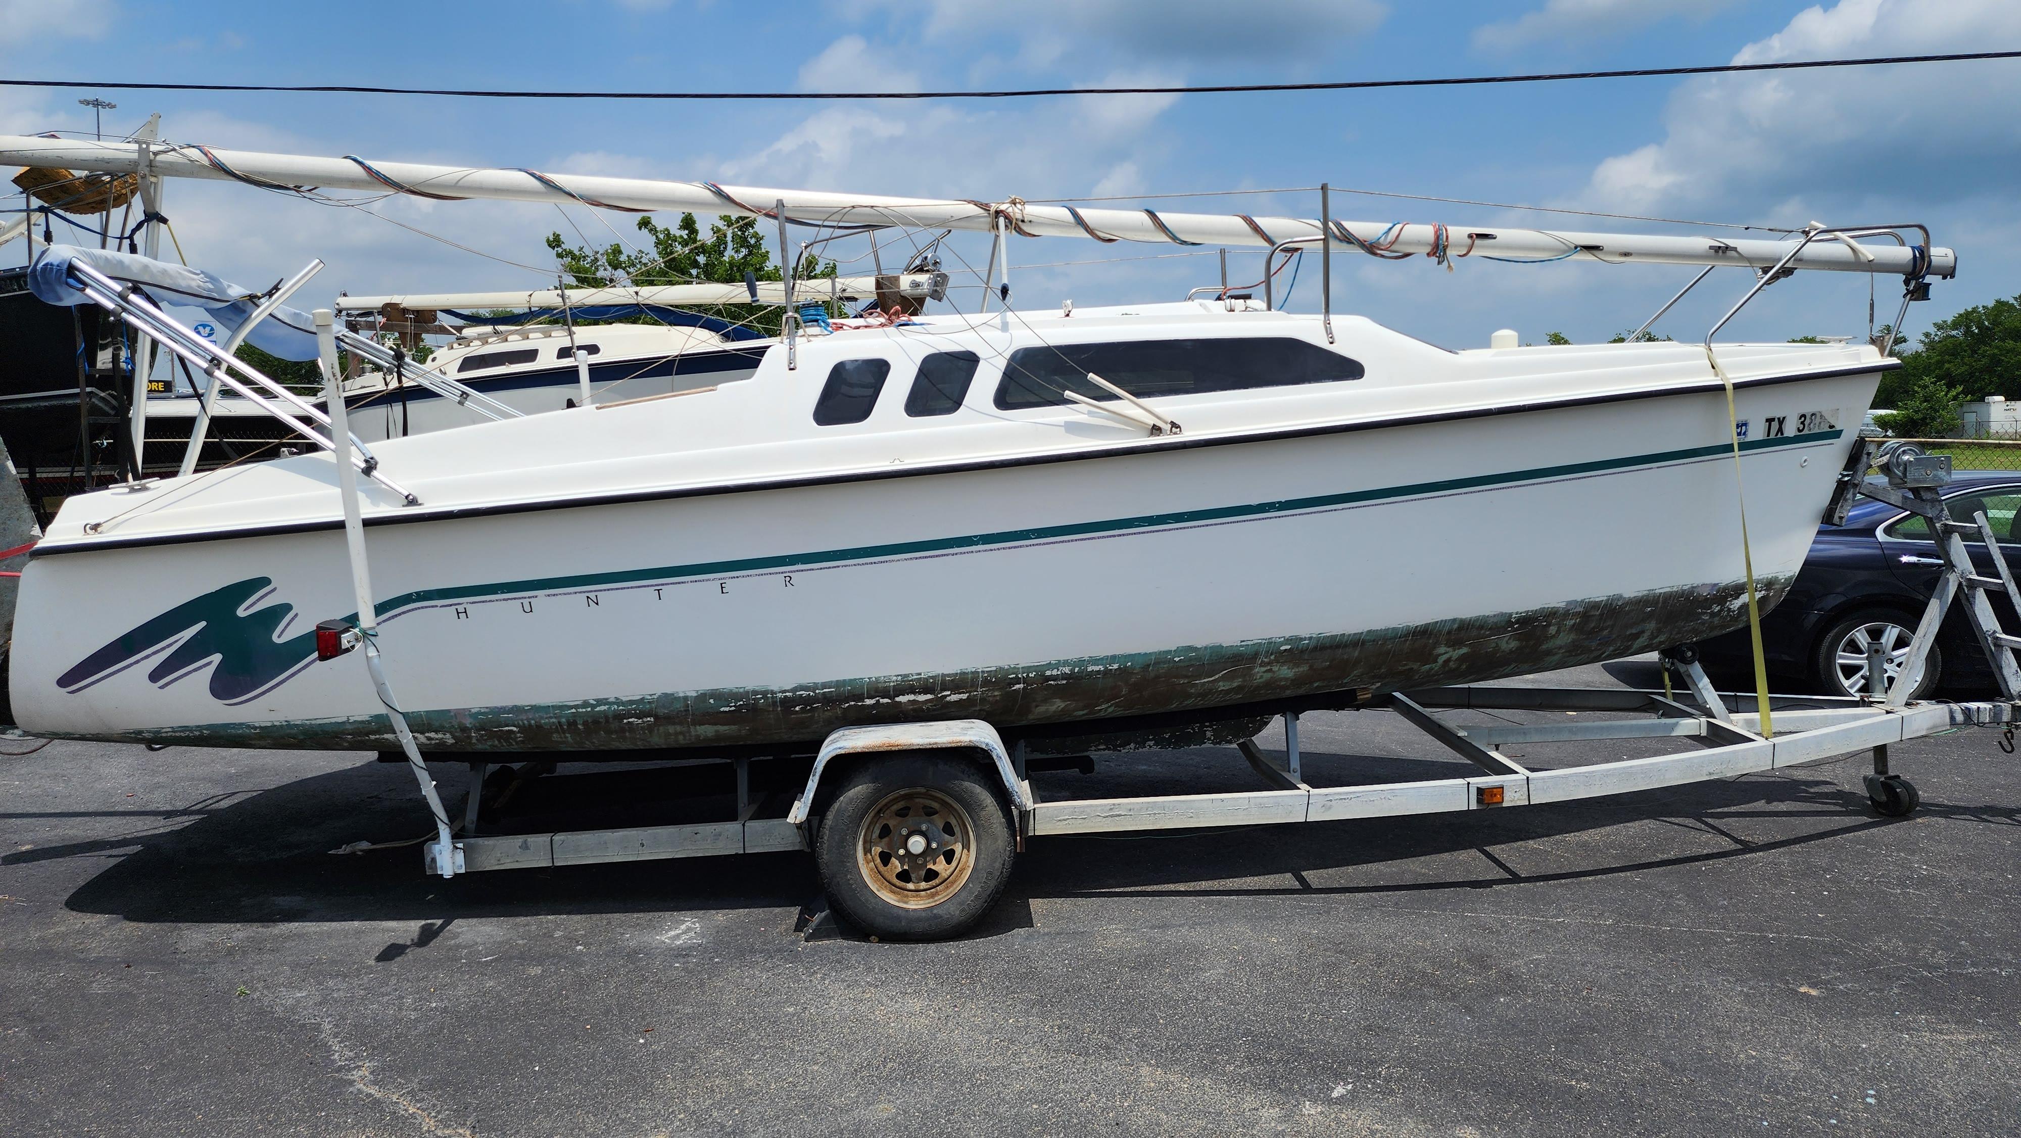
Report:
[[[614,241],[602,249],[568,245],[560,232],[548,234],[548,249],[554,253],[562,273],[582,287],[742,285],[746,273],[758,281],[780,279],[778,265],[772,261],[772,247],[766,243],[764,230],[758,228],[758,218],[715,218],[709,222],[709,236],[701,236],[701,224],[695,220],[695,214],[681,214],[681,220],[673,226],[663,226],[653,216],[641,216],[639,232],[647,236],[647,249],[627,249]],[[823,263],[810,253],[794,277],[806,281],[833,275],[835,263]],[[721,305],[709,311],[711,315],[721,315],[732,323],[746,323],[768,336],[776,336],[780,327],[776,305]]]

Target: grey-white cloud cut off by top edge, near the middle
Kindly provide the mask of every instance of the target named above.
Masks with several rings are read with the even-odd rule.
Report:
[[[1376,0],[930,0],[930,38],[1010,38],[1027,65],[1085,49],[1126,59],[1287,59],[1334,51],[1372,32],[1388,10]],[[913,4],[905,4],[907,10]]]

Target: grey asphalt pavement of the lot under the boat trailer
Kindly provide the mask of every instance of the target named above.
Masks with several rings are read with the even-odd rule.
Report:
[[[55,742],[0,758],[0,1134],[2013,1134],[1997,740],[1894,748],[1910,819],[1873,815],[1853,756],[1033,839],[948,944],[835,928],[802,853],[441,881],[416,847],[331,853],[426,829],[404,766]],[[1465,770],[1388,712],[1308,716],[1304,750],[1310,782]],[[439,778],[455,804],[461,768]],[[1202,748],[1039,788],[1261,786]]]

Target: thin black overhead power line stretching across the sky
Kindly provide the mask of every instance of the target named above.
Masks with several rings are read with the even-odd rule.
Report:
[[[806,101],[806,99],[1035,99],[1047,95],[1253,95],[1265,91],[1376,91],[1384,87],[1479,87],[1489,83],[1566,83],[1572,79],[1659,79],[1667,75],[1736,75],[1748,71],[1815,71],[1827,67],[1888,67],[1898,63],[1964,63],[2021,59],[2021,51],[1954,55],[1886,55],[1871,59],[1795,59],[1783,63],[1720,63],[1706,67],[1637,67],[1633,71],[1556,71],[1544,75],[1455,75],[1445,79],[1346,79],[1338,83],[1205,83],[1194,87],[1023,87],[1010,91],[483,91],[449,87],[269,85],[269,83],[99,83],[71,79],[0,79],[0,87],[75,87],[79,91],[267,91],[299,95],[441,95],[453,99],[657,99],[657,101]]]

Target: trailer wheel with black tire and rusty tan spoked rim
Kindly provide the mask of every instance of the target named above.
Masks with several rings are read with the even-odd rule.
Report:
[[[982,772],[932,752],[873,758],[821,819],[814,863],[829,904],[887,940],[936,940],[996,904],[1017,855]]]

